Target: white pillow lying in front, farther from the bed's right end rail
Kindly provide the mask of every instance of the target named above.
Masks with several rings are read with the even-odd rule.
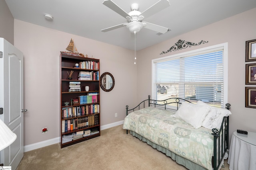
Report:
[[[202,121],[204,120],[209,110],[209,106],[200,106],[184,102],[181,104],[180,108],[176,111],[176,113],[171,116],[186,121],[194,128],[199,128],[202,126]]]

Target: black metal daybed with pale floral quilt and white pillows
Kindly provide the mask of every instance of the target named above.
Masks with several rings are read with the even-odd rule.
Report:
[[[229,109],[148,96],[132,109],[126,106],[123,129],[190,170],[218,170],[228,157]]]

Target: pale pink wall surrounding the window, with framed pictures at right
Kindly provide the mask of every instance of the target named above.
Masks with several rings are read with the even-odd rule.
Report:
[[[245,85],[245,64],[248,64],[245,62],[245,41],[256,39],[255,16],[256,8],[139,51],[137,57],[138,100],[145,99],[148,94],[151,94],[152,59],[228,42],[228,102],[231,104],[232,112],[229,136],[231,137],[236,129],[256,132],[256,109],[245,107],[245,86],[248,86]],[[201,40],[209,42],[160,55],[179,39],[192,43],[198,43]]]

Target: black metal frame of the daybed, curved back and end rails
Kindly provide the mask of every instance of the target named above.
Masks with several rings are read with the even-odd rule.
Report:
[[[168,102],[168,100],[175,100],[175,102]],[[143,104],[142,108],[145,108],[145,102],[148,102],[148,107],[150,106],[154,106],[154,107],[162,107],[164,109],[166,109],[166,105],[168,104],[173,104],[176,103],[177,104],[177,109],[179,107],[179,104],[182,104],[181,101],[186,101],[189,103],[192,103],[186,99],[182,99],[182,98],[168,98],[166,100],[152,100],[150,99],[150,95],[148,95],[148,99],[140,102],[140,104],[138,104],[138,106],[129,109],[129,106],[126,106],[126,116],[128,115],[128,111],[135,111],[135,110],[139,110],[140,109],[140,105]],[[163,102],[164,104],[159,104],[159,102]],[[226,104],[226,109],[230,109],[230,104]],[[220,129],[212,129],[212,135],[214,136],[214,156],[212,156],[212,168],[213,170],[218,170],[218,168],[220,167],[220,164],[224,158],[224,155],[226,152],[228,152],[228,132],[229,132],[229,116],[225,116],[223,117],[222,120],[222,125],[220,127]],[[128,130],[126,130],[126,134],[128,134]],[[221,139],[220,139],[221,138]],[[224,142],[224,141],[225,142]],[[218,142],[218,148],[217,148],[217,142]],[[224,145],[222,145],[224,143]],[[221,147],[220,147],[221,146]],[[217,150],[218,150],[218,155],[217,155]],[[221,152],[220,152],[221,151]],[[218,163],[218,164],[217,164]]]

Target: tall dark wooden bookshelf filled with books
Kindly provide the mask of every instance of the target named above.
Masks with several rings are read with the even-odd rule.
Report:
[[[60,53],[60,146],[100,136],[100,60]]]

